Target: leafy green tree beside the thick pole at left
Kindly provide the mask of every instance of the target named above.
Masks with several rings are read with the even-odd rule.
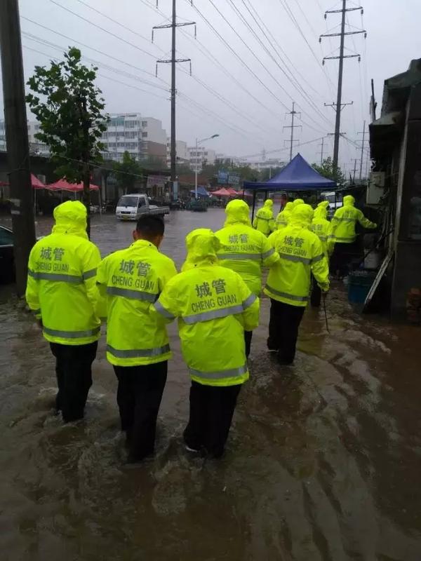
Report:
[[[101,90],[94,84],[96,67],[81,64],[81,51],[70,47],[62,62],[35,67],[29,78],[27,102],[40,124],[36,138],[50,147],[55,173],[69,182],[83,182],[83,203],[91,203],[91,170],[102,162],[100,142],[107,128]],[[44,100],[45,98],[45,100]],[[89,221],[88,221],[89,234]]]

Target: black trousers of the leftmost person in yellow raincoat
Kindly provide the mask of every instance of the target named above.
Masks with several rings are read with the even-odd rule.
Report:
[[[89,388],[92,386],[91,366],[98,341],[88,345],[50,343],[55,356],[58,393],[55,408],[62,412],[65,423],[83,419]]]

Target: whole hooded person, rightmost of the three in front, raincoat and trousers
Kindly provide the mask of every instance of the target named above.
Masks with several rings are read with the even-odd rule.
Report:
[[[192,379],[186,448],[219,458],[249,376],[244,331],[258,326],[259,299],[241,276],[220,266],[220,241],[212,231],[194,230],[186,244],[183,272],[169,281],[151,313],[163,322],[178,318],[182,356]]]

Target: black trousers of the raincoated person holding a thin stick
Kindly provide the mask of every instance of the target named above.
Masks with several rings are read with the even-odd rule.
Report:
[[[278,351],[279,362],[292,364],[298,339],[298,327],[305,306],[291,306],[271,299],[269,319],[269,349]]]

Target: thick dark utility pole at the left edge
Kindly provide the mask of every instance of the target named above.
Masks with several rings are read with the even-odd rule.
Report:
[[[18,0],[0,1],[0,48],[16,285],[22,296],[29,252],[35,243],[35,224]]]

